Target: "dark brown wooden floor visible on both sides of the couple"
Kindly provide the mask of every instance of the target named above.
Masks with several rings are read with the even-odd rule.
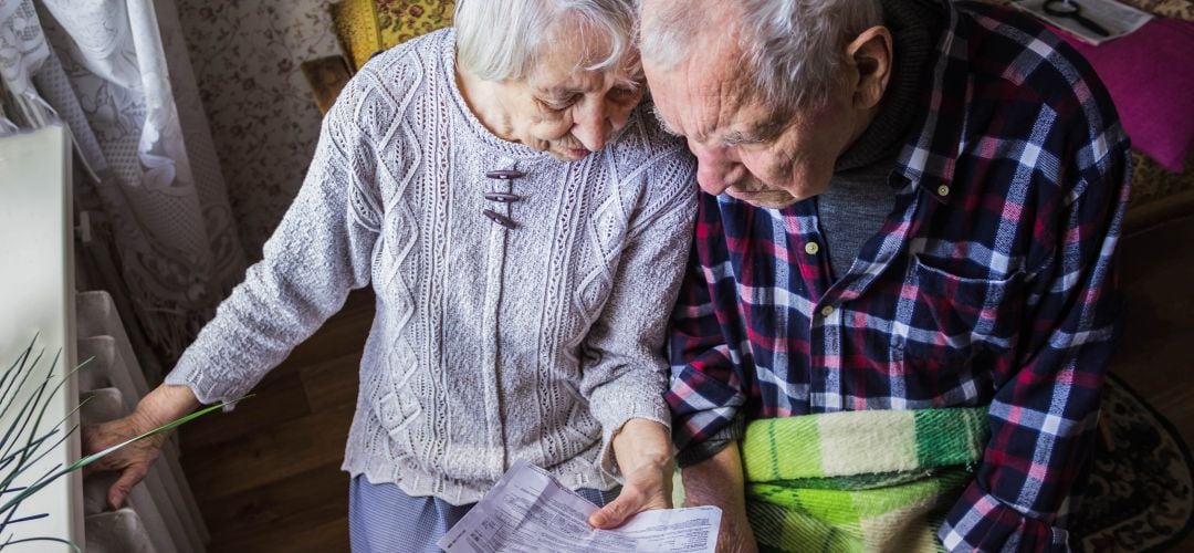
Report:
[[[1194,217],[1128,236],[1121,252],[1130,305],[1113,370],[1194,444]],[[209,551],[347,551],[339,466],[371,320],[373,296],[351,296],[257,395],[181,429]],[[1194,551],[1194,537],[1178,551]]]

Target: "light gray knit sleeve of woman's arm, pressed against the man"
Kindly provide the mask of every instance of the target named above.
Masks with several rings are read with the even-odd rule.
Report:
[[[581,395],[602,425],[602,468],[615,474],[610,442],[634,418],[671,426],[664,401],[664,338],[696,214],[695,166],[683,149],[657,162],[633,214],[609,299],[581,344]]]

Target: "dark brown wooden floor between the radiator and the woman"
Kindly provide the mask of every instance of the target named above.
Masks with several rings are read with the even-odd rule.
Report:
[[[340,462],[373,313],[373,295],[353,294],[252,398],[180,429],[183,466],[211,532],[208,551],[349,551]]]

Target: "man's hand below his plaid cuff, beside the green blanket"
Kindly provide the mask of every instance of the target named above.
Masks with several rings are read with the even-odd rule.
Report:
[[[738,443],[732,442],[716,455],[681,473],[684,480],[684,506],[721,508],[721,532],[718,553],[757,553],[755,533],[746,518],[746,496]]]

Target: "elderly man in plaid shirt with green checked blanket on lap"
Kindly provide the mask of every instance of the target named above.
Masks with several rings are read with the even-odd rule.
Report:
[[[1130,176],[1088,64],[928,0],[644,0],[641,32],[707,192],[671,334],[687,503],[727,549],[1067,548]]]

